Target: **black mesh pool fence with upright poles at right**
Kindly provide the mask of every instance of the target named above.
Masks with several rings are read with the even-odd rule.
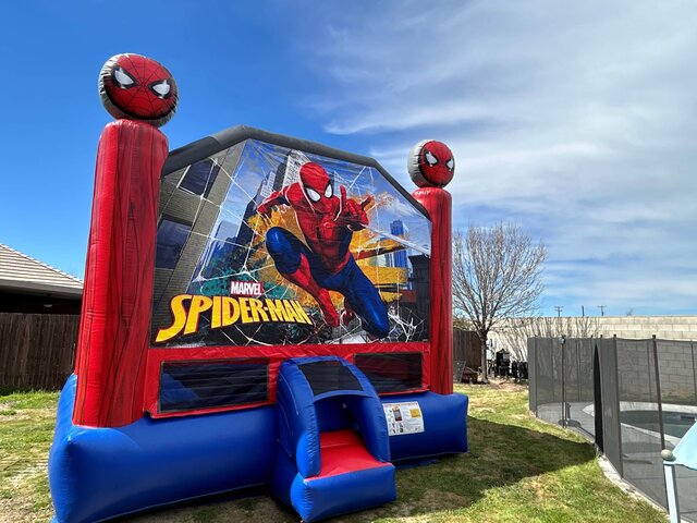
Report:
[[[662,449],[697,418],[697,343],[529,338],[529,408],[576,430],[617,473],[667,507]],[[697,522],[697,472],[678,467],[681,515]]]

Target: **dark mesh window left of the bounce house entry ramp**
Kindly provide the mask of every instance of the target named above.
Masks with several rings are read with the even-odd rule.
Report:
[[[268,361],[260,358],[166,362],[160,373],[160,412],[267,401],[267,370]]]

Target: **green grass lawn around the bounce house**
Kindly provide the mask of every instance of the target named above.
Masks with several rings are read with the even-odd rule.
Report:
[[[470,398],[470,453],[400,469],[398,501],[343,522],[665,522],[600,471],[579,436],[537,421],[526,389],[462,386]],[[46,479],[58,394],[0,394],[0,522],[46,522]],[[132,523],[298,521],[268,496],[189,506],[131,518]]]

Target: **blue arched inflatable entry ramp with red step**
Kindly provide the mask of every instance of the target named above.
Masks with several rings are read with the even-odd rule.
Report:
[[[306,522],[396,499],[382,403],[357,367],[335,356],[285,361],[273,495]]]

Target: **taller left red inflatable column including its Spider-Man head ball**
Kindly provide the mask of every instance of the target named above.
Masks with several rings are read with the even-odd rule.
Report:
[[[147,82],[140,82],[144,72]],[[167,137],[155,125],[174,108],[152,113],[158,100],[167,100],[157,90],[147,99],[159,76],[175,104],[169,72],[145,57],[113,57],[100,75],[105,105],[120,120],[105,127],[97,150],[75,367],[77,425],[118,427],[143,416],[160,173],[168,156]]]

